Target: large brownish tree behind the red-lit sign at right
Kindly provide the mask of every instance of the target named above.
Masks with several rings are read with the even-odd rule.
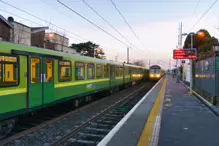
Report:
[[[218,39],[212,37],[205,29],[200,29],[199,32],[203,32],[202,36],[195,34],[193,37],[193,47],[198,51],[198,60],[206,59],[214,55],[212,46],[217,44]],[[191,48],[191,36],[188,35],[184,42],[183,48]]]

